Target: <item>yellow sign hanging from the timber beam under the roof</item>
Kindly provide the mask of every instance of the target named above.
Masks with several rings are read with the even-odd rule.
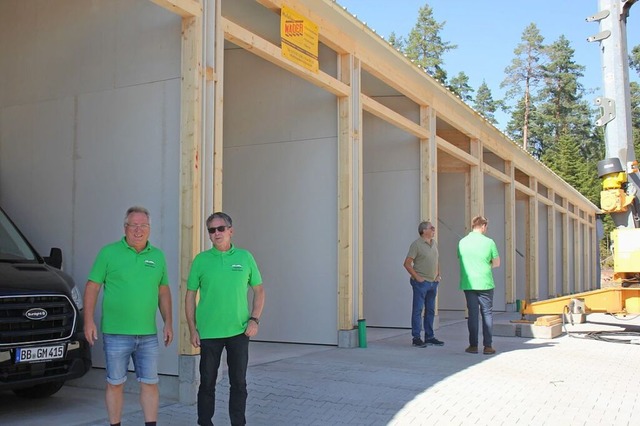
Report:
[[[318,72],[316,24],[287,6],[282,6],[280,39],[282,56],[310,71]]]

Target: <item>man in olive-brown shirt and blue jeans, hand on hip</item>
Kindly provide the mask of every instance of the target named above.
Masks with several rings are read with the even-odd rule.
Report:
[[[436,227],[429,221],[418,225],[420,238],[411,243],[409,253],[404,260],[404,268],[411,276],[409,283],[413,290],[413,304],[411,308],[412,344],[418,348],[427,345],[442,346],[444,342],[436,339],[433,331],[433,321],[436,315],[436,295],[440,283],[440,263],[438,244],[433,239]],[[422,310],[424,309],[424,319]],[[424,340],[420,333],[424,328]]]

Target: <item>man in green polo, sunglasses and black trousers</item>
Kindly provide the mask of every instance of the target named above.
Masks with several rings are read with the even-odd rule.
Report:
[[[185,314],[191,344],[200,348],[198,424],[213,425],[216,381],[223,349],[229,367],[229,418],[246,424],[249,338],[258,333],[264,307],[262,276],[253,255],[231,243],[233,222],[226,213],[207,219],[213,247],[198,254],[187,279]],[[253,290],[251,311],[248,290]],[[196,293],[200,300],[196,307]]]

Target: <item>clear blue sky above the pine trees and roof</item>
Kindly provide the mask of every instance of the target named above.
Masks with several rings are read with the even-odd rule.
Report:
[[[485,80],[494,99],[501,99],[504,91],[500,83],[504,69],[514,57],[513,50],[520,43],[522,32],[534,22],[550,44],[564,35],[575,50],[574,60],[586,67],[581,83],[591,102],[602,93],[599,43],[587,42],[587,37],[600,31],[597,22],[586,22],[598,11],[598,0],[337,0],[352,15],[376,33],[388,38],[393,31],[407,37],[416,23],[418,10],[425,4],[433,9],[437,22],[445,21],[441,37],[458,45],[444,56],[444,68],[449,78],[460,71],[469,76],[469,83],[477,90]],[[627,20],[629,50],[640,44],[640,4],[631,7]],[[632,81],[640,81],[630,72]],[[589,92],[591,91],[591,92]],[[507,118],[496,115],[498,127]]]

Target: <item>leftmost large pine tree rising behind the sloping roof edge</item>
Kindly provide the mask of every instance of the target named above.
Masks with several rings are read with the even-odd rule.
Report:
[[[424,68],[442,84],[446,84],[447,74],[443,68],[442,56],[458,46],[445,42],[440,37],[445,21],[437,22],[433,9],[425,4],[418,11],[418,19],[409,33],[405,53],[409,59]]]

